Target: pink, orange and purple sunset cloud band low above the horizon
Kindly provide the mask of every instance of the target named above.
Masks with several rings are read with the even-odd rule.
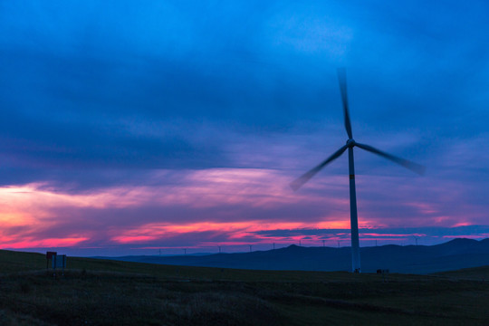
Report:
[[[245,245],[345,240],[335,235],[264,236],[277,229],[350,229],[346,176],[319,175],[298,192],[283,170],[213,168],[188,170],[166,183],[168,171],[151,176],[154,186],[107,187],[67,194],[41,184],[0,188],[0,242],[5,247],[103,246],[178,242]],[[175,177],[175,176],[173,176]],[[425,178],[358,177],[360,228],[474,225],[480,212],[456,205],[461,189],[429,187]],[[145,184],[145,183],[142,183]],[[425,188],[426,189],[426,188]],[[442,191],[443,190],[443,191]],[[437,195],[439,197],[436,197]],[[445,204],[448,198],[450,201]],[[463,217],[461,217],[463,216]],[[365,239],[404,239],[396,233],[364,233]],[[410,236],[423,236],[420,233]],[[447,235],[448,236],[448,235]],[[400,241],[400,240],[399,240]]]

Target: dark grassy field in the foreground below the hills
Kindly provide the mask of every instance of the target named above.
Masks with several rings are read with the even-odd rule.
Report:
[[[436,275],[264,272],[0,251],[0,325],[488,325],[489,267]]]

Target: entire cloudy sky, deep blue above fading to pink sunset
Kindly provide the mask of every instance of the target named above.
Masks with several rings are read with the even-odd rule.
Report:
[[[0,248],[76,255],[489,236],[485,1],[0,2]]]

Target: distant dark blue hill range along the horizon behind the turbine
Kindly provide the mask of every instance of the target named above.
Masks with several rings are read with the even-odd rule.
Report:
[[[375,273],[436,273],[489,265],[489,238],[455,239],[441,245],[382,245],[360,248],[361,270]],[[350,271],[351,248],[302,247],[239,254],[97,257],[149,264],[255,270]]]

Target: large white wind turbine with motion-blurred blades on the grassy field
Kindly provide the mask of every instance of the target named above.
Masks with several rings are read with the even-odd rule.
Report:
[[[345,129],[348,134],[348,140],[346,145],[335,151],[331,157],[323,160],[318,166],[312,168],[311,170],[304,173],[301,177],[296,178],[292,181],[291,187],[294,191],[297,191],[302,187],[307,181],[309,181],[316,173],[321,171],[322,168],[326,167],[336,158],[340,158],[341,154],[348,149],[348,163],[350,172],[350,228],[351,228],[351,263],[352,271],[354,273],[360,273],[360,244],[359,244],[359,222],[357,216],[357,194],[355,191],[355,167],[353,161],[353,148],[358,147],[360,149],[365,149],[371,153],[377,154],[383,158],[390,159],[391,161],[398,163],[404,168],[408,168],[419,175],[425,173],[425,167],[411,162],[408,159],[398,158],[394,155],[390,155],[379,149],[375,149],[369,145],[360,144],[353,139],[353,134],[351,132],[350,123],[350,112],[348,109],[348,97],[347,97],[347,87],[346,87],[346,71],[344,68],[338,69],[338,81],[340,82],[340,92],[341,100],[343,102],[343,113],[345,120]]]

